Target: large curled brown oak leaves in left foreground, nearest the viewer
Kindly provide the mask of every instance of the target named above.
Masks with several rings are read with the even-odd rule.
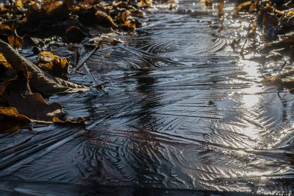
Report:
[[[54,70],[67,66],[64,59],[43,52],[40,61],[49,74],[41,69],[41,66],[32,64],[20,56],[17,50],[7,43],[0,41],[0,132],[10,132],[18,128],[36,123],[62,123],[64,115],[62,105],[58,102],[48,104],[43,96],[58,93],[72,93],[86,91],[88,87],[76,85],[52,75]],[[57,68],[54,68],[57,67]],[[60,73],[60,72],[58,72]],[[84,122],[78,117],[75,122]]]

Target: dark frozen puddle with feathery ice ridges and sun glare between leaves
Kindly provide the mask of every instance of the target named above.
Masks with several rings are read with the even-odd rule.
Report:
[[[0,135],[1,196],[291,194],[294,97],[260,84],[280,62],[240,60],[231,44],[247,39],[242,19],[221,22],[199,1],[179,6],[147,12],[125,45],[86,61],[98,83],[111,81],[105,93],[49,99],[92,117],[89,130]]]

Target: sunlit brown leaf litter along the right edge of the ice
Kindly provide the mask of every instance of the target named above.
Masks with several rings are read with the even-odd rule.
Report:
[[[269,73],[262,83],[275,85],[281,89],[288,88],[294,92],[294,3],[284,0],[249,0],[237,5],[233,16],[251,14],[253,19],[248,37],[253,39],[254,55],[249,60],[266,63],[267,61],[284,61],[274,73]],[[245,50],[242,50],[242,56]],[[250,54],[250,52],[248,52]],[[287,60],[289,62],[287,62]],[[286,71],[284,71],[286,70]]]

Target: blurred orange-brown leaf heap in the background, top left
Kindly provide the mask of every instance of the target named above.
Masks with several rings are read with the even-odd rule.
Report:
[[[162,1],[161,1],[162,3]],[[173,1],[165,2],[176,8]],[[152,0],[124,0],[106,3],[102,0],[16,0],[0,4],[0,38],[14,47],[22,47],[24,36],[51,34],[64,37],[68,42],[79,43],[105,28],[134,32],[141,27],[143,9],[156,7]]]

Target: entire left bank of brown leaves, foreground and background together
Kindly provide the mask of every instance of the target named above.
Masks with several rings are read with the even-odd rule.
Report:
[[[161,3],[165,3],[166,8],[176,8],[173,1]],[[68,43],[77,54],[78,46],[71,48],[70,43],[81,44],[88,40],[93,48],[90,54],[104,45],[116,45],[121,41],[115,39],[115,35],[134,32],[144,25],[142,10],[157,5],[152,0],[110,3],[102,0],[16,0],[0,3],[0,133],[26,125],[31,127],[32,122],[84,123],[83,117],[65,118],[60,103],[48,104],[43,97],[99,90],[107,82],[86,87],[68,81],[72,62],[44,49],[60,40]],[[35,64],[19,54],[18,48],[24,46],[33,48],[34,55],[39,55]],[[80,67],[86,67],[84,61],[75,62],[76,72]]]

